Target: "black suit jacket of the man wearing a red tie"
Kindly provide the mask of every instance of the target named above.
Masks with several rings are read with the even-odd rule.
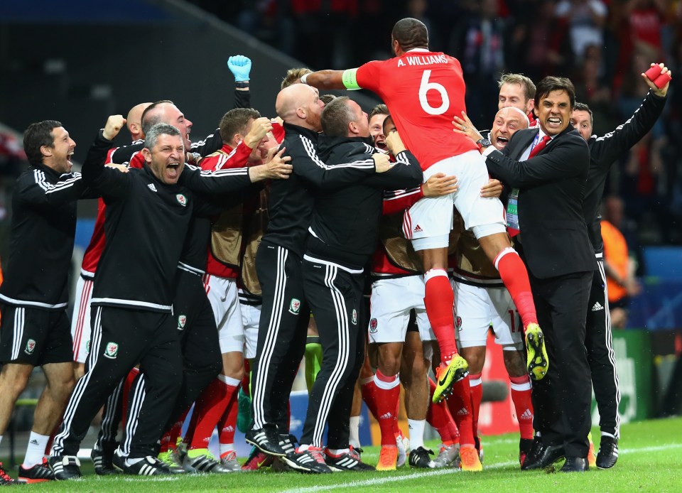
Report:
[[[594,250],[583,214],[590,167],[585,140],[568,126],[534,158],[517,161],[538,134],[519,130],[504,153],[486,158],[489,173],[519,188],[519,226],[526,264],[536,278],[596,269]]]

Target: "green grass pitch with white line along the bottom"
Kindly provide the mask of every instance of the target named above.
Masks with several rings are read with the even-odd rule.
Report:
[[[592,430],[598,449],[599,430]],[[92,464],[84,463],[81,480],[28,485],[45,492],[678,492],[682,489],[682,418],[642,421],[622,426],[620,457],[611,470],[553,474],[521,472],[516,457],[518,435],[483,438],[484,470],[467,473],[453,469],[416,470],[405,466],[396,472],[338,472],[334,475],[303,475],[297,472],[232,473],[227,475],[175,475],[161,478],[134,476],[97,477]],[[436,443],[428,443],[437,450]],[[369,464],[379,459],[378,447],[362,455]],[[558,463],[558,467],[561,462]],[[11,472],[16,477],[16,471]],[[23,489],[23,487],[21,487]]]

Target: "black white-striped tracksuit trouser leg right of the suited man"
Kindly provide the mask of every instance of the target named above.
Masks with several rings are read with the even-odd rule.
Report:
[[[603,432],[617,437],[620,430],[618,416],[620,389],[616,357],[613,352],[609,296],[603,259],[597,261],[597,266],[598,269],[592,276],[585,347],[588,350],[592,387],[599,408],[599,427]]]

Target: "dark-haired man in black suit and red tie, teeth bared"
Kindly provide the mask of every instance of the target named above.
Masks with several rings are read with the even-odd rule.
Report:
[[[455,118],[455,131],[475,139],[489,172],[513,188],[507,224],[519,234],[552,362],[546,378],[534,382],[538,433],[524,470],[562,457],[562,471],[588,469],[592,396],[585,318],[596,264],[583,215],[590,151],[570,125],[574,105],[570,80],[545,77],[535,96],[539,128],[517,131],[503,152],[480,139],[465,115]]]

